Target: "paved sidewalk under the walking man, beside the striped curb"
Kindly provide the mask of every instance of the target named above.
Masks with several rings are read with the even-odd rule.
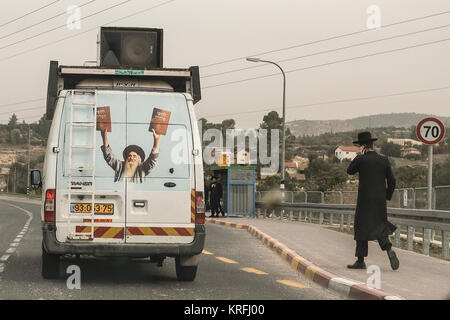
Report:
[[[303,222],[241,217],[208,221],[253,226],[338,277],[366,283],[371,276],[367,270],[346,268],[356,260],[355,241],[351,235]],[[369,256],[365,262],[367,267],[376,265],[380,268],[382,291],[405,299],[450,299],[450,262],[399,248],[394,251],[400,260],[400,268],[396,271],[391,269],[387,254],[380,250],[378,243],[369,242]]]

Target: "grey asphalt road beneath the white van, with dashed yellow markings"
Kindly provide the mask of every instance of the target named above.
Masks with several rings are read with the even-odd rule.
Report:
[[[194,282],[178,282],[175,262],[162,268],[133,260],[67,259],[81,269],[81,289],[66,279],[41,277],[39,205],[0,199],[0,299],[323,300],[342,299],[305,278],[248,232],[207,225],[204,254]],[[30,226],[17,235],[33,214]],[[14,240],[16,239],[16,242]],[[7,253],[13,244],[14,252]]]

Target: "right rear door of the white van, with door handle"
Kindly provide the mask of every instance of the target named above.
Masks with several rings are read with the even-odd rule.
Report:
[[[126,144],[144,158],[134,179],[125,182],[125,241],[192,242],[195,175],[192,126],[185,96],[129,91],[126,119]],[[152,150],[155,139],[151,125],[160,135],[159,150]]]

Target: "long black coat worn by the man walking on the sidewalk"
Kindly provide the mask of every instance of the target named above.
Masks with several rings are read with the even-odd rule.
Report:
[[[348,174],[359,172],[355,212],[355,240],[378,240],[397,228],[387,220],[386,199],[391,200],[395,178],[388,158],[375,151],[356,156]],[[386,187],[387,181],[387,187]]]

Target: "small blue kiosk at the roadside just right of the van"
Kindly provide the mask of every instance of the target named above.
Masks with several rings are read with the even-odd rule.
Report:
[[[224,212],[227,217],[255,216],[256,167],[230,165],[213,169],[223,187]]]

